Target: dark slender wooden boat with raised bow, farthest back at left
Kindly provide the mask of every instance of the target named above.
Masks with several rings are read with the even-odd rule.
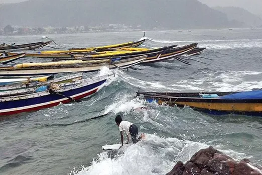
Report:
[[[44,47],[48,44],[53,42],[53,40],[46,41],[46,42],[37,42],[37,43],[29,43],[29,44],[21,44],[21,45],[14,45],[14,46],[2,46],[0,47],[1,52],[10,52],[10,51],[20,51],[20,50],[33,50],[36,48]]]

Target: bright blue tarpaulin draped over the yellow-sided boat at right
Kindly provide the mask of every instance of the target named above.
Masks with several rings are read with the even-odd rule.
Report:
[[[220,98],[221,99],[262,99],[262,90],[230,94]]]

